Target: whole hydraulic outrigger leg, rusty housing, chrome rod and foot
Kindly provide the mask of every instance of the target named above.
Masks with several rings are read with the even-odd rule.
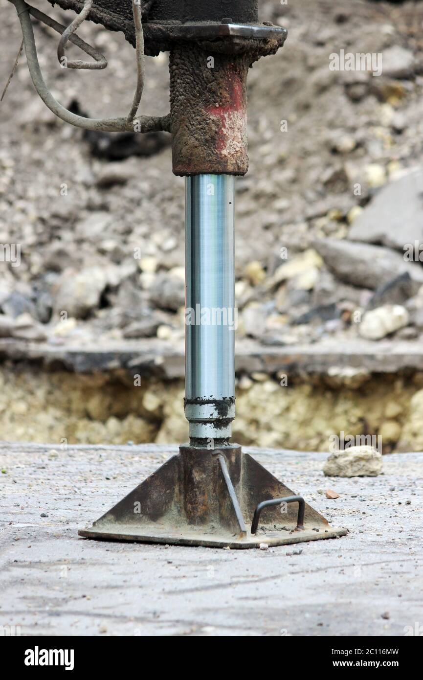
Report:
[[[149,22],[147,36],[148,30]],[[164,44],[165,37],[171,46],[173,171],[186,177],[190,443],[79,534],[232,548],[342,536],[345,529],[331,528],[301,496],[230,442],[237,325],[234,185],[235,176],[248,169],[246,78],[254,61],[284,44],[286,31],[228,19],[163,24]]]

